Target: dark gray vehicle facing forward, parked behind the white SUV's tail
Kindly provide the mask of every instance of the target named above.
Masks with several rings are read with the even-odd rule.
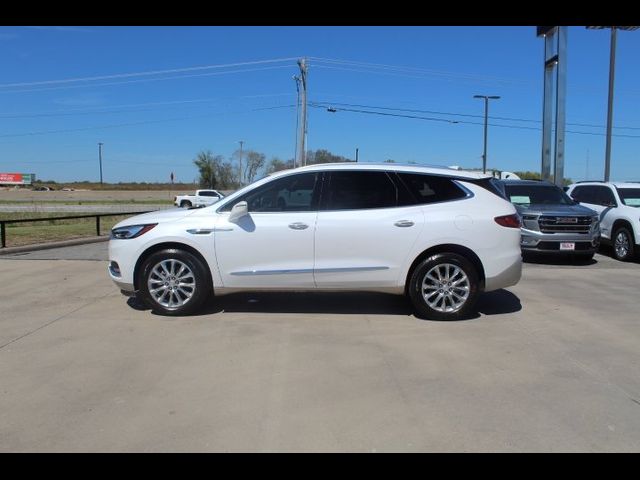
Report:
[[[570,254],[588,259],[600,245],[598,213],[573,201],[553,183],[501,180],[522,217],[523,253]]]

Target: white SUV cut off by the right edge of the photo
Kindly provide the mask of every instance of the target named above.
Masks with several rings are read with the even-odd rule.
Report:
[[[640,248],[640,183],[579,182],[567,194],[600,214],[603,243],[613,246],[613,256],[632,260]]]

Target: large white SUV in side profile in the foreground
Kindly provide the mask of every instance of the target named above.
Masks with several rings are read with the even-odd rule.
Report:
[[[520,219],[493,182],[415,165],[278,172],[210,207],[118,223],[109,274],[165,315],[214,292],[366,290],[406,293],[422,317],[461,318],[480,292],[520,280]]]

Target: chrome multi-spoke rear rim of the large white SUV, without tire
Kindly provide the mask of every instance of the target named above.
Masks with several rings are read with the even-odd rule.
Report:
[[[427,272],[422,280],[425,302],[438,312],[457,312],[469,298],[470,283],[457,265],[441,263]]]

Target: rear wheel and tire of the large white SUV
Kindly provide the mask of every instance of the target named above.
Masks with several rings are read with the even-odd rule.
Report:
[[[444,275],[447,268],[449,273]],[[434,273],[438,270],[443,274],[443,280],[448,277],[453,282],[446,281],[439,285],[431,280],[438,277]],[[466,280],[461,281],[463,276]],[[426,290],[423,289],[423,282],[427,286]],[[455,285],[456,282],[460,282],[458,286]],[[432,320],[460,320],[467,317],[475,306],[480,294],[479,284],[478,271],[469,260],[457,253],[438,253],[415,267],[407,290],[416,316]],[[466,288],[461,288],[463,286]],[[423,294],[423,291],[427,294]]]

